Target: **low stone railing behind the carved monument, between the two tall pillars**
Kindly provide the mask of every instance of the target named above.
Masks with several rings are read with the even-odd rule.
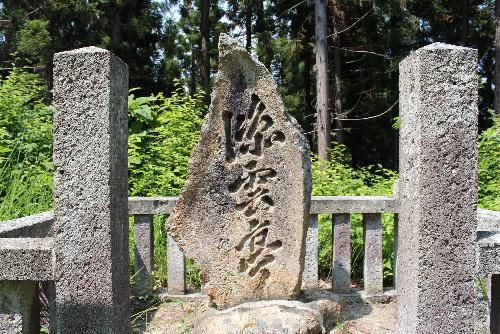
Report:
[[[136,244],[136,281],[144,291],[151,280],[154,240],[154,214],[170,214],[176,197],[132,197],[129,214],[134,215]],[[303,288],[318,287],[318,215],[333,216],[333,291],[349,293],[351,284],[350,214],[362,213],[365,228],[364,286],[368,294],[383,292],[382,213],[397,213],[397,200],[384,196],[318,196],[311,202],[311,215],[306,243]],[[172,238],[168,238],[168,292],[184,294],[185,259]],[[142,274],[141,274],[142,273]],[[142,288],[144,287],[144,288]]]

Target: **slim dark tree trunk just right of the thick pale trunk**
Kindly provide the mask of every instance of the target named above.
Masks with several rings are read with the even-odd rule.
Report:
[[[344,125],[342,123],[342,118],[345,118],[342,114],[342,67],[340,59],[340,38],[339,38],[339,27],[340,27],[340,17],[336,15],[337,8],[336,1],[332,1],[332,17],[333,17],[333,59],[335,66],[335,139],[337,142],[345,143],[345,133]]]

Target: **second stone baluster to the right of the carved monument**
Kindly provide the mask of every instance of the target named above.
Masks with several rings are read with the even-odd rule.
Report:
[[[351,290],[351,223],[350,214],[333,215],[333,292]]]

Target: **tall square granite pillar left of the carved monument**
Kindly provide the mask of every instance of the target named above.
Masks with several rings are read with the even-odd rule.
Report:
[[[129,333],[127,65],[96,47],[54,56],[58,333]]]

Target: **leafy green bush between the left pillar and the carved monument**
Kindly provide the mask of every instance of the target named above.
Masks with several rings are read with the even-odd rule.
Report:
[[[171,97],[129,96],[129,194],[176,196],[187,177],[189,157],[197,143],[204,110],[203,95],[189,96],[177,83]],[[156,216],[155,263],[160,284],[167,278],[165,217]],[[168,259],[167,259],[168,260]],[[199,286],[198,270],[187,262],[187,282]]]

